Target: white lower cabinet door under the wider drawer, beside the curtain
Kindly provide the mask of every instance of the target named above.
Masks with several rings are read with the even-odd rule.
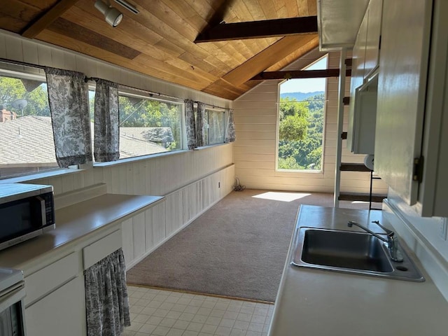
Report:
[[[27,307],[25,321],[27,336],[86,335],[83,276]]]

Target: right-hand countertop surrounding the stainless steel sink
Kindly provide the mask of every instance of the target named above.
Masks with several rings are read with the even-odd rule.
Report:
[[[360,231],[347,228],[347,221],[368,225],[374,220],[383,223],[381,211],[302,205],[296,229]],[[292,249],[283,269],[269,336],[448,335],[448,302],[409,249],[424,282],[296,267],[290,265]]]

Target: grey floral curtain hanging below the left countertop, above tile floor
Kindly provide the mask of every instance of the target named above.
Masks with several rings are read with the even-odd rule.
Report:
[[[87,336],[120,336],[131,325],[125,269],[121,248],[85,269]]]

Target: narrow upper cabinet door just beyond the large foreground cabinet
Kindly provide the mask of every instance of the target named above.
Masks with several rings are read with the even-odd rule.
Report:
[[[381,35],[381,13],[383,0],[370,0],[367,20],[367,38],[365,42],[364,77],[378,66],[379,40]]]

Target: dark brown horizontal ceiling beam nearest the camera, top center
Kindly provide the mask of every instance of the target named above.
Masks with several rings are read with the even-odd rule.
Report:
[[[202,31],[195,39],[195,43],[296,34],[317,34],[317,16],[222,23],[221,25]]]

